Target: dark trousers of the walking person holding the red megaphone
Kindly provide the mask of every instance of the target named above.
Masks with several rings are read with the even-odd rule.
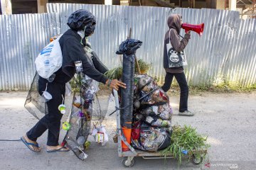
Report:
[[[166,72],[166,77],[164,79],[164,85],[161,88],[165,92],[169,91],[174,77],[178,81],[178,85],[180,86],[180,89],[181,89],[179,111],[180,112],[188,111],[188,84],[187,84],[184,72],[182,72],[182,73]]]

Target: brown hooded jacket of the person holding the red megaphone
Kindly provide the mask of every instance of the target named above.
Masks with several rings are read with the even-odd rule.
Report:
[[[190,39],[189,34],[185,34],[184,38],[181,40],[179,37],[179,33],[181,31],[181,16],[177,14],[172,14],[169,16],[167,24],[169,26],[169,30],[166,32],[164,36],[164,69],[169,73],[181,73],[183,72],[183,67],[172,67],[169,68],[168,55],[166,51],[166,44],[171,41],[171,46],[177,52],[181,52],[186,45],[188,44],[188,40]],[[169,31],[171,30],[170,37]]]

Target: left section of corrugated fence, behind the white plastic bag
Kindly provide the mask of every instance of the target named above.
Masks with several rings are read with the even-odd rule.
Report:
[[[0,15],[0,90],[29,88],[35,58],[59,25],[55,13]]]

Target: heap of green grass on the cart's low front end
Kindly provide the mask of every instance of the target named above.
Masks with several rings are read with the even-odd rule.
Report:
[[[167,155],[173,155],[175,159],[178,159],[178,163],[181,164],[181,158],[184,156],[183,150],[188,151],[188,156],[191,156],[193,152],[198,152],[196,157],[201,157],[200,151],[206,150],[210,145],[206,143],[207,137],[198,134],[196,128],[191,126],[180,125],[173,126],[173,133],[171,135],[171,144],[169,147],[162,151],[164,157]]]

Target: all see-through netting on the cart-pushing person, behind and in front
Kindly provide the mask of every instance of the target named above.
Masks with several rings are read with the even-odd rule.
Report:
[[[48,113],[46,102],[38,94],[38,74],[36,73],[28,96],[25,108],[36,118],[41,119]],[[88,79],[85,74],[70,81],[73,94],[65,96],[66,111],[62,122],[69,123],[63,144],[68,145],[79,159],[85,159],[85,142],[93,125],[100,125],[107,113],[109,96],[112,91],[99,90],[98,83]],[[66,91],[67,91],[66,86]],[[68,114],[69,113],[69,114]]]

